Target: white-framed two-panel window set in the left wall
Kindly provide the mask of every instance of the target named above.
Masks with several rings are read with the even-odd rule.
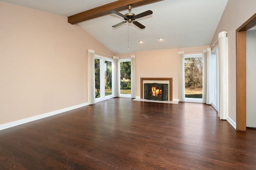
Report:
[[[112,98],[112,59],[95,56],[96,102]]]

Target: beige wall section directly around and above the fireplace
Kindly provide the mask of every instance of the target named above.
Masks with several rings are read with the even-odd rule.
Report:
[[[136,96],[141,77],[171,77],[172,98],[178,99],[178,49],[136,52]]]

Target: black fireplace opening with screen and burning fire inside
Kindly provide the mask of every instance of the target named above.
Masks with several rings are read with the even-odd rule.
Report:
[[[168,100],[168,84],[144,83],[144,99]]]

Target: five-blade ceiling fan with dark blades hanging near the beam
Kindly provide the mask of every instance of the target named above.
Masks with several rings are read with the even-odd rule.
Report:
[[[138,15],[135,15],[135,14],[131,13],[132,5],[128,5],[128,10],[129,10],[129,13],[124,14],[124,15],[119,13],[119,12],[117,12],[117,11],[115,11],[115,10],[110,10],[110,12],[112,12],[112,13],[118,15],[118,16],[121,16],[125,20],[125,21],[122,21],[122,22],[120,22],[120,23],[118,23],[116,25],[113,25],[112,27],[114,27],[114,28],[118,27],[118,26],[120,26],[120,25],[122,25],[122,24],[124,24],[124,23],[126,23],[128,21],[128,23],[133,23],[134,25],[136,25],[140,29],[143,29],[143,28],[145,28],[145,26],[142,25],[141,23],[139,23],[138,21],[134,21],[134,20],[136,20],[138,18],[142,18],[144,16],[148,16],[150,14],[153,14],[153,12],[151,10],[148,10],[148,11],[142,12],[142,13],[140,13]]]

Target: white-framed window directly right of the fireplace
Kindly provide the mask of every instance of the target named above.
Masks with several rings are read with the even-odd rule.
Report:
[[[185,101],[202,102],[203,94],[203,56],[185,55]]]

